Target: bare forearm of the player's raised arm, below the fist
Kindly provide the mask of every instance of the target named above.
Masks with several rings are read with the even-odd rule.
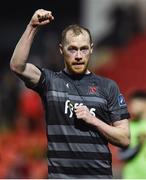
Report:
[[[30,24],[28,24],[25,32],[23,33],[13,52],[10,61],[12,70],[21,72],[25,69],[30,48],[36,32],[37,28],[34,28]]]

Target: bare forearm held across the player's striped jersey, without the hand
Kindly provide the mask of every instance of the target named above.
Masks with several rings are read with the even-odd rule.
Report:
[[[108,125],[96,117],[92,117],[92,124],[107,138],[111,144],[120,147],[126,147],[129,145],[130,135],[128,128]]]

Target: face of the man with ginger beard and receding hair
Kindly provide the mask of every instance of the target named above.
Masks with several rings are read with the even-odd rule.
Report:
[[[60,44],[60,52],[64,56],[65,67],[71,74],[86,73],[93,45],[86,31],[75,35],[72,31],[66,34],[66,42]]]

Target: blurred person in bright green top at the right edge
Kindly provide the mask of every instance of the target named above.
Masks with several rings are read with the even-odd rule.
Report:
[[[138,90],[129,96],[131,144],[119,151],[124,161],[122,178],[146,179],[146,91]]]

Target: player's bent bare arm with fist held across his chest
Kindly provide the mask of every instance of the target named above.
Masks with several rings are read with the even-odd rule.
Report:
[[[115,121],[112,125],[109,125],[91,115],[87,106],[78,106],[75,109],[75,113],[78,119],[82,119],[96,127],[111,144],[119,147],[127,147],[129,145],[130,129],[128,119]]]

